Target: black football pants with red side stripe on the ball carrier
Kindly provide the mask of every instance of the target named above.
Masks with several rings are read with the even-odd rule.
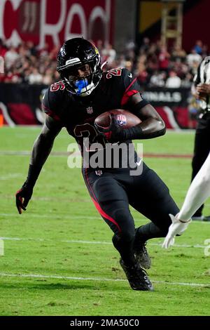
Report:
[[[171,219],[179,212],[169,189],[159,176],[143,165],[139,176],[130,176],[129,169],[89,171],[83,169],[87,189],[102,218],[113,230],[113,245],[125,263],[134,263],[135,239],[165,237]],[[129,205],[152,221],[135,230]]]

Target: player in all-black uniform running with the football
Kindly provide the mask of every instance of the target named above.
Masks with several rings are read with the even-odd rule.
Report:
[[[106,138],[106,143],[120,141],[128,145],[132,139],[165,134],[164,121],[142,98],[137,79],[121,68],[103,72],[99,51],[89,41],[83,38],[66,41],[57,55],[57,71],[62,80],[52,84],[45,93],[45,124],[34,143],[27,180],[16,194],[19,213],[26,210],[41,168],[62,127],[76,139],[82,154],[85,137],[90,143]],[[130,110],[142,122],[125,129],[111,120],[106,132],[100,131],[94,119],[113,109]],[[83,177],[94,205],[113,230],[113,245],[120,253],[120,265],[130,286],[134,290],[149,291],[153,285],[144,270],[151,267],[146,241],[165,237],[172,223],[169,213],[176,215],[179,209],[159,176],[139,160],[137,154],[134,161],[136,167],[143,164],[141,175],[132,176],[129,164],[127,168],[95,169],[83,161]],[[151,222],[135,228],[130,205]]]

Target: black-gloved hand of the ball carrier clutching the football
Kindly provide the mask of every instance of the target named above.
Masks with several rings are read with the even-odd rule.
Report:
[[[125,139],[125,128],[121,128],[118,124],[116,124],[115,117],[113,114],[110,114],[109,117],[109,127],[104,128],[97,124],[94,124],[95,128],[97,128],[99,134],[104,136],[106,140],[108,140],[110,143],[123,141]]]

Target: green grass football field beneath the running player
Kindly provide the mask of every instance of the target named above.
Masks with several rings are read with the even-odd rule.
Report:
[[[27,212],[18,215],[15,192],[22,186],[29,154],[40,128],[0,128],[1,231],[0,315],[209,315],[210,257],[204,241],[210,223],[193,222],[176,246],[148,243],[153,292],[132,291],[80,169],[67,156],[49,157]],[[192,154],[194,134],[167,133],[144,141],[144,152]],[[62,131],[53,151],[66,152],[73,140]],[[14,153],[16,152],[16,153]],[[190,158],[145,158],[181,206],[190,183]],[[139,194],[139,198],[141,195]],[[151,205],[152,207],[152,205]],[[136,225],[146,218],[132,211]],[[207,201],[204,213],[210,214]],[[207,246],[206,246],[207,248]]]

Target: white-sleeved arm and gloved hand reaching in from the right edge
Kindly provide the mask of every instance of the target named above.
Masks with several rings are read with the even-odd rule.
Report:
[[[210,153],[200,171],[195,176],[186,194],[186,199],[183,206],[176,216],[170,214],[172,225],[169,227],[169,232],[162,247],[168,249],[174,244],[174,237],[181,235],[188,227],[191,218],[195,211],[205,202],[210,196]]]

